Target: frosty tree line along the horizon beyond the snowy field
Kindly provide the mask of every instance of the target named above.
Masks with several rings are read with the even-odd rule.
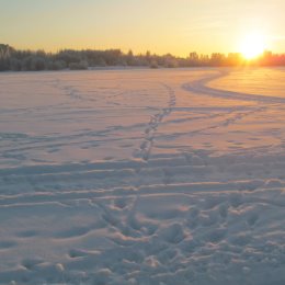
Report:
[[[62,49],[57,53],[46,53],[44,50],[20,50],[9,45],[0,44],[0,71],[83,70],[92,67],[110,66],[174,68],[242,65],[285,66],[285,55],[264,52],[260,57],[247,60],[239,53],[200,55],[193,52],[186,58],[183,58],[171,54],[159,56],[150,52],[134,55],[132,50],[123,53],[121,49]]]

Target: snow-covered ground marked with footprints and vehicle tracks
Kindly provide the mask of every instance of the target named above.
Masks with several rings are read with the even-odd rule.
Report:
[[[284,71],[0,75],[0,284],[284,285]]]

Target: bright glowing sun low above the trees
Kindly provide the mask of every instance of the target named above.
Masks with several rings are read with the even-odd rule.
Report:
[[[253,59],[266,49],[265,36],[261,33],[248,34],[240,44],[240,52],[246,59]]]

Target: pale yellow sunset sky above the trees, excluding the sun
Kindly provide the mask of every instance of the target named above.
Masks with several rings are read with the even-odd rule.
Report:
[[[284,0],[0,0],[0,43],[186,56],[240,52],[249,34],[285,52]]]

